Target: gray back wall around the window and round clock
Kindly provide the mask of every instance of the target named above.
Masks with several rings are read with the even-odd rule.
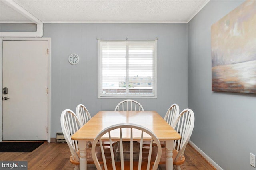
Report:
[[[98,40],[156,39],[157,98],[136,98],[145,110],[164,117],[173,103],[187,107],[187,24],[44,24],[44,37],[52,42],[52,129],[61,132],[60,114],[84,104],[94,116],[114,110],[123,99],[98,99]],[[68,56],[80,56],[77,65]]]

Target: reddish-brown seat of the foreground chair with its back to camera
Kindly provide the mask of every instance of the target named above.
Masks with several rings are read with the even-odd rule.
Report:
[[[116,170],[121,170],[121,162],[115,162],[115,164],[116,164]],[[138,170],[138,165],[139,165],[138,161],[133,161],[134,170]],[[108,170],[113,170],[112,162],[108,162],[107,167],[108,167]],[[146,170],[146,169],[147,169],[147,162],[142,161],[141,170]],[[150,165],[149,169],[152,170],[152,165]],[[103,168],[103,170],[105,169]],[[130,161],[124,161],[124,170],[130,170]]]

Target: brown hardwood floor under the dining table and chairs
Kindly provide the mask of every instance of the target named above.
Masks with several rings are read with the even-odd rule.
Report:
[[[182,170],[214,170],[190,145],[185,150]],[[73,170],[66,143],[44,143],[33,152],[0,152],[0,161],[28,161],[28,170]],[[92,164],[88,170],[96,170]],[[160,166],[159,170],[165,170]]]

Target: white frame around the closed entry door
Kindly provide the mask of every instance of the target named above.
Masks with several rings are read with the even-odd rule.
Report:
[[[17,38],[1,37],[0,38],[0,142],[3,139],[3,41],[48,41],[48,142],[51,142],[51,38]]]

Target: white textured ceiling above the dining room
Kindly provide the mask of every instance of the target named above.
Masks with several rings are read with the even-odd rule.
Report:
[[[1,0],[1,23],[31,23]],[[14,0],[43,23],[187,23],[209,0]]]

